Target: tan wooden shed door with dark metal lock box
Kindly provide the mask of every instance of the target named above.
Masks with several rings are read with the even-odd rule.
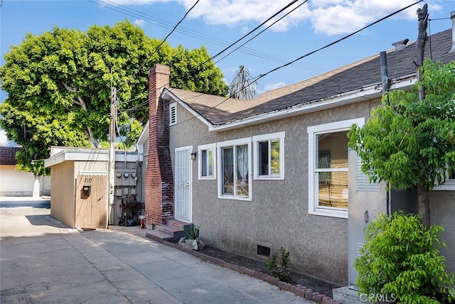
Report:
[[[107,187],[107,173],[77,175],[75,227],[106,228]]]

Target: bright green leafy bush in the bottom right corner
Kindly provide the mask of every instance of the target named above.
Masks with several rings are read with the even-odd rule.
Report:
[[[426,228],[419,215],[380,214],[366,229],[366,244],[354,266],[362,293],[394,295],[403,303],[454,299],[454,274],[445,269],[438,248],[444,228]]]

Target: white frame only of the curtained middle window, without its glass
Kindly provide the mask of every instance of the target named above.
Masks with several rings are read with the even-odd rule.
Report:
[[[237,195],[226,195],[223,194],[223,153],[222,149],[223,148],[228,148],[232,146],[235,148],[235,146],[241,146],[241,145],[247,145],[248,146],[248,196],[237,196]],[[216,144],[217,147],[217,165],[218,165],[218,198],[220,199],[225,199],[225,200],[247,200],[251,201],[252,200],[252,170],[251,170],[251,138],[247,137],[244,139],[235,139],[232,141],[222,141],[220,143]],[[235,149],[234,149],[235,150]]]

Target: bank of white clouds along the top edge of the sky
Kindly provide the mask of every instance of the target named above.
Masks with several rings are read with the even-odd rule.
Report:
[[[429,11],[442,9],[438,1],[427,1]],[[195,3],[193,0],[116,0],[115,2],[122,5],[178,2],[187,10]],[[287,4],[289,0],[200,0],[188,18],[201,18],[209,25],[240,26],[242,31],[245,31],[245,28],[252,28],[252,24],[247,23],[259,24]],[[298,4],[301,2],[297,2],[290,9]],[[278,21],[270,30],[287,31],[300,23],[310,22],[316,33],[326,35],[352,33],[410,4],[412,4],[410,0],[312,0]],[[422,3],[411,6],[393,18],[414,19],[417,22],[416,11],[422,6]]]

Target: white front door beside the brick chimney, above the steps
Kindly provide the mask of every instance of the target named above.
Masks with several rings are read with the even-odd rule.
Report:
[[[192,170],[191,151],[193,147],[176,148],[176,175],[174,180],[174,217],[191,222]]]

